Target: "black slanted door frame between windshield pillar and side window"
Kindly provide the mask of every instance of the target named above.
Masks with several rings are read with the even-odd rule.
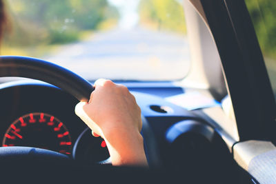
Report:
[[[191,0],[217,46],[239,141],[275,142],[276,104],[264,57],[241,0]]]

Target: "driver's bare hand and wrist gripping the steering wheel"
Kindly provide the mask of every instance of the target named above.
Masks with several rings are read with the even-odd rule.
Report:
[[[106,141],[112,165],[148,165],[141,110],[126,86],[97,80],[90,101],[78,103],[75,112],[94,136]]]

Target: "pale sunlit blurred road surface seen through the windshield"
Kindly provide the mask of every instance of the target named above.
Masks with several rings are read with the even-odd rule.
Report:
[[[96,32],[44,59],[86,79],[168,80],[188,72],[188,41],[181,34],[135,30]]]

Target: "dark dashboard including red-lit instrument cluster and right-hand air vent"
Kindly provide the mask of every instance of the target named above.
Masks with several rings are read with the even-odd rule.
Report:
[[[220,136],[210,123],[164,100],[183,94],[182,88],[168,83],[162,88],[160,83],[125,85],[144,115],[141,134],[150,165],[187,165],[191,155],[218,143],[228,153],[226,146],[220,146],[223,141],[218,141]],[[110,163],[106,143],[92,136],[75,115],[78,101],[67,92],[41,81],[12,81],[0,85],[0,101],[1,146],[39,147],[82,163]]]

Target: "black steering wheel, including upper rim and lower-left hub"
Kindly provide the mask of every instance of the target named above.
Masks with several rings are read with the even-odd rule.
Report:
[[[55,85],[62,90],[72,94],[79,101],[88,101],[90,94],[94,90],[92,85],[81,78],[77,74],[62,68],[59,65],[43,61],[41,59],[34,59],[30,57],[0,57],[0,76],[18,76],[29,79],[37,79]],[[146,119],[142,116],[143,127],[147,127]],[[145,125],[145,126],[144,126]],[[148,129],[144,130],[144,140],[148,139]],[[150,143],[150,140],[148,141]],[[148,145],[148,155],[152,146]],[[151,156],[154,158],[155,156]],[[3,161],[64,161],[68,160],[68,156],[53,152],[50,150],[43,150],[35,147],[0,147],[0,162]]]

